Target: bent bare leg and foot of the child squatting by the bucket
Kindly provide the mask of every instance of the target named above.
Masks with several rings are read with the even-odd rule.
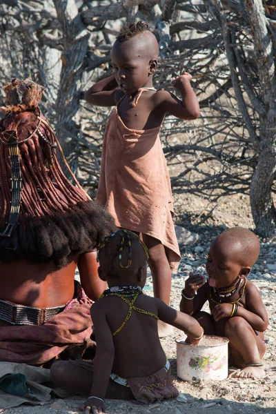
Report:
[[[261,359],[266,351],[263,342],[264,334],[255,332],[243,317],[233,317],[226,322],[224,335],[230,341],[234,364],[244,367],[235,376],[243,378],[264,377],[263,366],[255,366],[255,364],[262,363]]]

